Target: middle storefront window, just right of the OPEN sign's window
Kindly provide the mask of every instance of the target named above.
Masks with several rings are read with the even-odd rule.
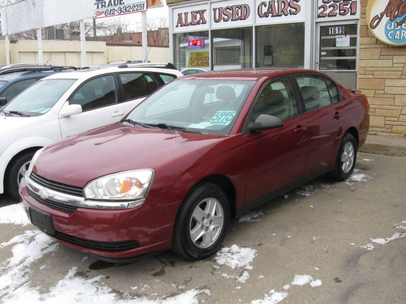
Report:
[[[213,69],[252,67],[252,27],[212,30]]]

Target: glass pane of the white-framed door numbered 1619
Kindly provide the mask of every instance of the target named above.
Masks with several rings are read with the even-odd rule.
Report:
[[[357,24],[320,26],[320,70],[355,70]]]

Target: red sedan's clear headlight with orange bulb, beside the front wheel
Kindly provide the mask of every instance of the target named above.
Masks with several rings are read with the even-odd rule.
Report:
[[[103,201],[144,199],[147,197],[154,174],[154,169],[139,169],[96,178],[85,186],[85,198]]]

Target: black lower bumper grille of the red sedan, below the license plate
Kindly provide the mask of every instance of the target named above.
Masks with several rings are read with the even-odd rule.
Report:
[[[134,240],[122,241],[122,242],[101,242],[101,241],[93,241],[82,239],[78,237],[74,237],[71,235],[64,234],[59,231],[55,231],[55,234],[52,235],[53,237],[60,239],[62,241],[66,241],[72,244],[92,248],[92,249],[100,249],[106,251],[120,251],[120,250],[129,250],[140,247],[140,243]]]

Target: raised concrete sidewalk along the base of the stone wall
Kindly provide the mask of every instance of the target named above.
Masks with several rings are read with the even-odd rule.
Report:
[[[406,156],[406,138],[382,135],[368,135],[360,152],[384,154],[390,156]]]

